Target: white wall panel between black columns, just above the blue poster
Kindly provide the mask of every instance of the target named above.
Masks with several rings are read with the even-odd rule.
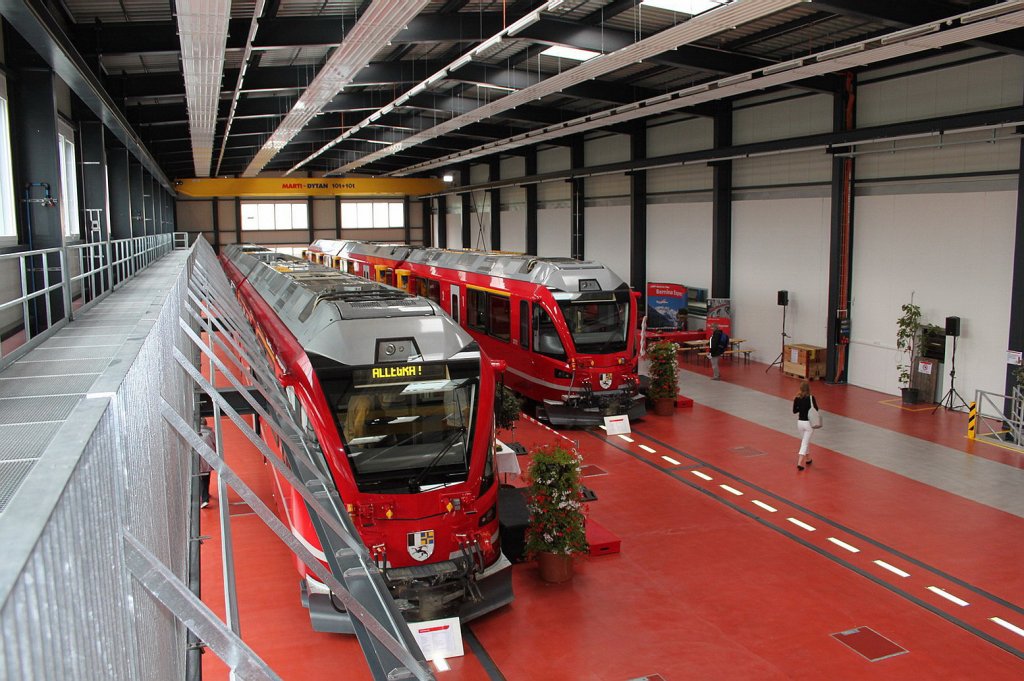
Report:
[[[710,201],[647,207],[647,281],[711,288]]]

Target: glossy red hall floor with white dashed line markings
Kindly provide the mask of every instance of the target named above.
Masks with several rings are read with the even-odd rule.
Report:
[[[793,379],[764,369],[723,364],[722,374],[770,394],[795,392]],[[848,386],[812,389],[826,412],[975,456],[1011,456],[969,443],[964,415],[902,410]],[[794,436],[699,405],[634,430],[633,442],[566,433],[606,473],[587,478],[598,495],[590,514],[622,539],[622,553],[580,558],[572,582],[558,586],[542,584],[532,563],[514,566],[515,601],[469,626],[504,678],[1024,678],[1024,659],[999,647],[1024,654],[1024,637],[989,620],[1024,626],[1011,605],[1024,604],[1024,519],[814,444],[814,466],[798,474]],[[527,445],[554,437],[526,421],[514,434]],[[269,501],[258,455],[237,433],[228,448]],[[215,506],[202,511],[211,536],[203,594],[222,611]],[[244,505],[232,505],[231,526],[245,640],[284,679],[370,678],[353,638],[310,629],[284,546]],[[834,637],[858,627],[907,652],[870,662]],[[468,646],[449,662],[438,678],[490,678]],[[204,672],[226,678],[212,653]]]

